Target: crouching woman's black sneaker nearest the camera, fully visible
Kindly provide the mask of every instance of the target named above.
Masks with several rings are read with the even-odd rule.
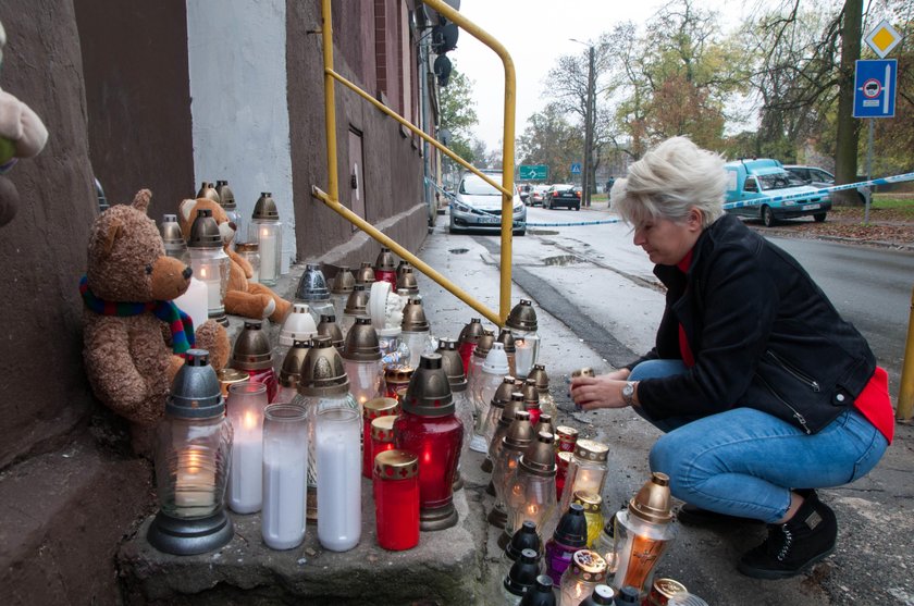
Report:
[[[811,568],[835,551],[835,511],[804,491],[806,499],[782,524],[768,524],[768,539],[740,558],[739,571],[755,579],[788,579]]]

